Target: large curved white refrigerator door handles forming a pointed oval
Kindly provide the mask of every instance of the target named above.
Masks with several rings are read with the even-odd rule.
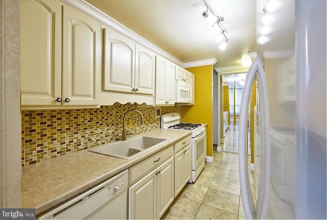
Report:
[[[259,98],[262,105],[261,111],[264,120],[264,138],[262,145],[262,160],[264,164],[262,168],[258,200],[256,207],[254,205],[250,181],[248,175],[247,165],[247,116],[248,116],[248,103],[250,100],[251,90],[255,79],[258,80]],[[266,218],[268,212],[268,197],[269,197],[269,177],[270,177],[270,134],[269,134],[269,109],[268,109],[268,92],[266,86],[266,79],[261,60],[256,56],[247,72],[243,95],[241,100],[241,113],[240,113],[240,127],[239,127],[239,170],[240,170],[240,184],[244,213],[247,219]]]

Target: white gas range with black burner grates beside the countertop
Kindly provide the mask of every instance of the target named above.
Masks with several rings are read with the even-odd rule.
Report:
[[[206,130],[205,126],[193,123],[180,123],[179,113],[166,113],[161,115],[161,128],[192,130],[192,178],[194,182],[200,175],[206,157]]]

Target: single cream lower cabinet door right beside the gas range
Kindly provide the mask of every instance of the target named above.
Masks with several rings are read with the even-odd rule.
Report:
[[[191,145],[189,144],[174,156],[175,197],[191,178]]]

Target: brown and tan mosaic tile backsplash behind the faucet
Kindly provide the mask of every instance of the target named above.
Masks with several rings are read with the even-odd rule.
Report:
[[[160,128],[155,108],[116,103],[94,109],[22,110],[21,165],[28,166],[121,140],[123,115],[130,109],[141,111],[145,123],[141,123],[137,113],[131,112],[126,115],[127,132],[136,135]],[[161,114],[178,112],[182,117],[182,106],[160,108]],[[132,128],[129,128],[130,120]]]

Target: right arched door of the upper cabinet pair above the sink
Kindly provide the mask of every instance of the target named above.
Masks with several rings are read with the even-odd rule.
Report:
[[[135,89],[136,93],[154,94],[155,54],[136,44]]]

